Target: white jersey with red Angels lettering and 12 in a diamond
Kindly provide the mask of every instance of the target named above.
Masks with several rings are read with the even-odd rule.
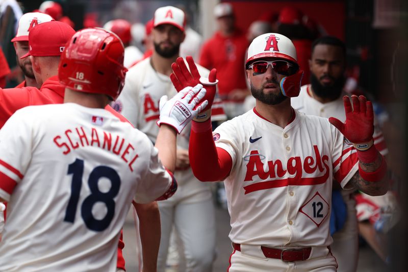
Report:
[[[222,123],[216,146],[231,155],[224,181],[235,243],[327,246],[331,187],[358,170],[353,147],[326,118],[297,111],[285,128],[255,109]]]

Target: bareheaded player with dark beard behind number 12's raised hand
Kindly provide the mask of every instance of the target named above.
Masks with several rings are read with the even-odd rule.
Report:
[[[346,94],[343,90],[346,69],[345,44],[335,37],[317,39],[312,44],[309,66],[311,84],[300,88],[299,96],[292,98],[292,107],[305,114],[325,118],[334,116],[344,122],[346,115],[342,97]],[[382,155],[386,155],[388,150],[385,139],[377,126],[374,126],[373,139],[376,149]],[[335,182],[334,185],[336,184]],[[356,271],[359,260],[359,228],[354,190],[340,192],[347,207],[347,217],[343,228],[333,235],[331,249],[339,265],[338,271],[351,272]],[[334,190],[334,193],[337,192]],[[333,205],[336,204],[333,203]]]

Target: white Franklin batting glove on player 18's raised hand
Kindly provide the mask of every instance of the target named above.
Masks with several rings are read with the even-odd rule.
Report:
[[[186,87],[167,101],[167,95],[160,98],[160,118],[157,125],[162,123],[172,126],[179,134],[199,112],[208,105],[208,101],[202,101],[206,95],[206,89],[201,84],[194,88]]]

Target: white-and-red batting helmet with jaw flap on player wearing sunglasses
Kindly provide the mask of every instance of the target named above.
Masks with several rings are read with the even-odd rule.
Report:
[[[254,61],[265,58],[278,58],[289,61],[298,67],[296,48],[292,41],[277,33],[262,34],[253,39],[248,47],[246,67]],[[298,96],[303,70],[297,69],[293,75],[287,76],[281,81],[281,90],[285,96]]]

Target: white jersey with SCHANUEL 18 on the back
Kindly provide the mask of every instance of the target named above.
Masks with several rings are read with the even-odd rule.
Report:
[[[115,271],[129,205],[172,182],[146,135],[104,109],[25,107],[0,130],[0,271]]]

